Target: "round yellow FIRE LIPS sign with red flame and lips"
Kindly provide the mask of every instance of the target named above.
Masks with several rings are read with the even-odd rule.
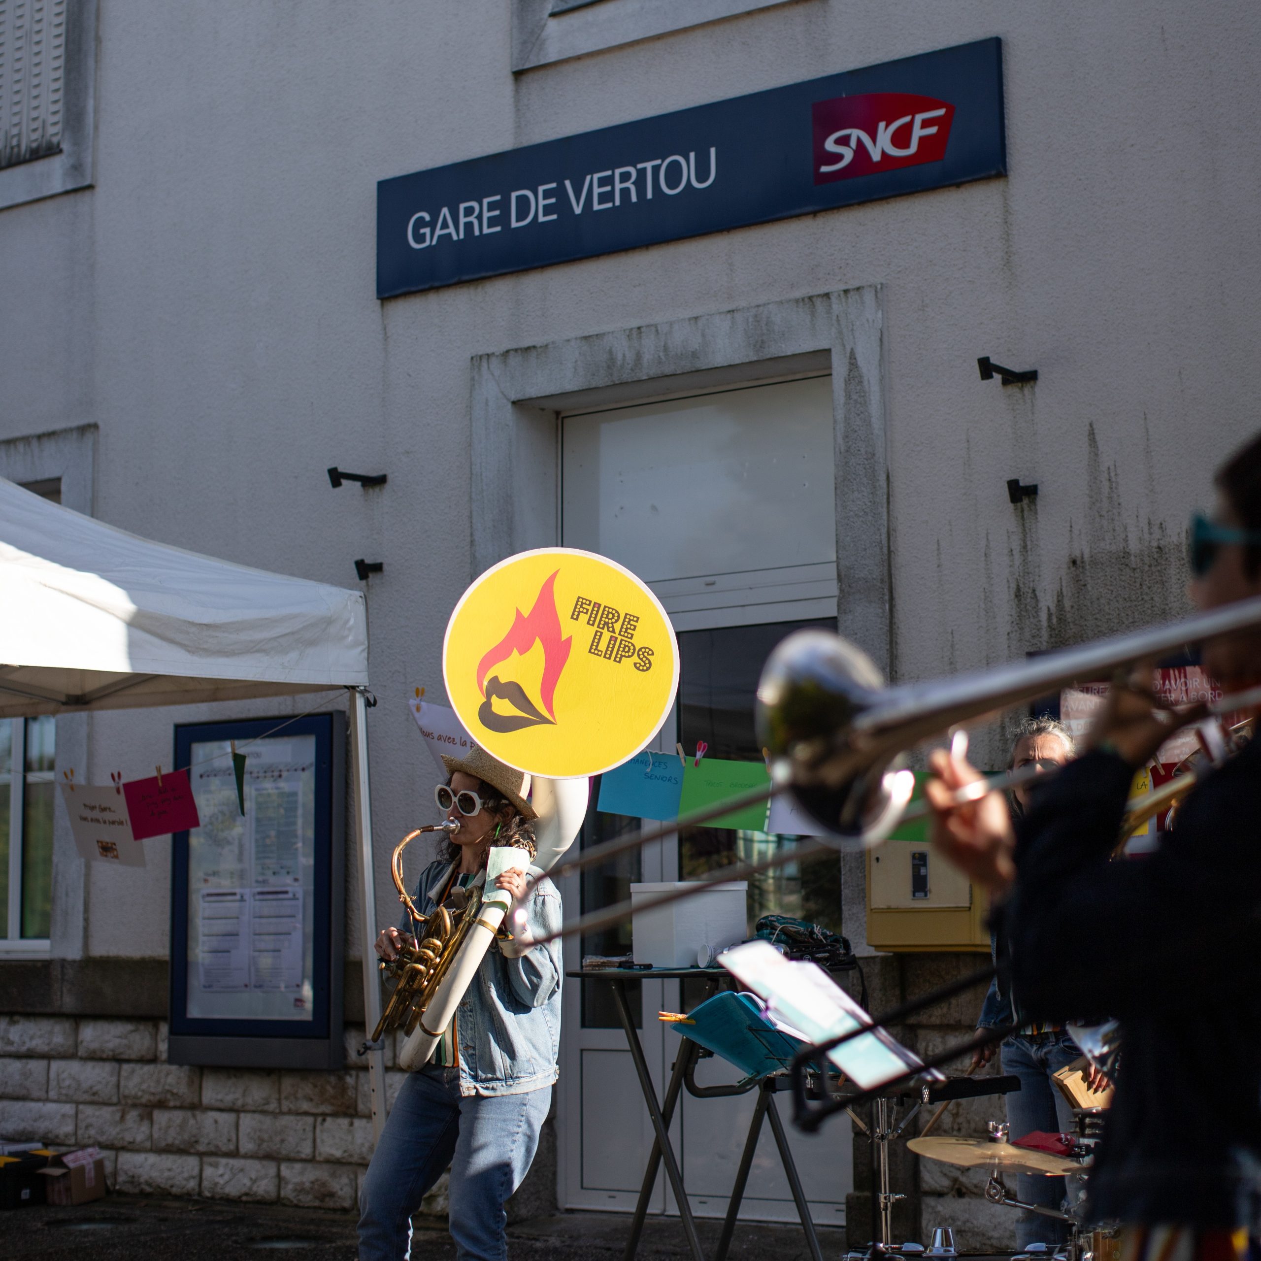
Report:
[[[639,753],[678,686],[675,629],[628,569],[542,547],[488,569],[443,642],[446,695],[487,753],[554,779]]]

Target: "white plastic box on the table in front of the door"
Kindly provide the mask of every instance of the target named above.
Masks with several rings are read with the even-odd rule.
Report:
[[[749,936],[749,886],[744,880],[715,885],[656,910],[639,909],[641,903],[675,889],[686,889],[691,883],[672,880],[630,885],[630,904],[634,908],[630,937],[637,963],[695,967],[702,947],[707,948],[709,958],[714,958],[728,946],[735,946]]]

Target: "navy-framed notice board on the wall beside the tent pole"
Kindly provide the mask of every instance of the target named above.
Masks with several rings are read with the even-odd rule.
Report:
[[[344,716],[180,725],[175,767],[170,1062],[340,1067]]]

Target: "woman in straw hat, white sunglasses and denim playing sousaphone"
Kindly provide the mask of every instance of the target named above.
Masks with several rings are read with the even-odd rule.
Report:
[[[492,846],[535,854],[530,776],[482,749],[443,762],[450,778],[434,797],[459,827],[420,875],[415,900],[424,915],[464,908],[469,889],[485,883]],[[560,894],[546,876],[531,890],[526,871],[506,871],[496,885],[526,912],[523,941],[560,928]],[[393,958],[404,938],[386,928],[377,955]],[[538,1149],[559,1076],[562,976],[559,941],[491,946],[433,1059],[406,1074],[390,1108],[359,1193],[361,1261],[406,1261],[412,1214],[448,1165],[456,1256],[503,1261],[504,1204]]]

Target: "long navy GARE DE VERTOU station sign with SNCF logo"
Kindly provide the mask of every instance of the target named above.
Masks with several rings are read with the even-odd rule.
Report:
[[[383,179],[377,296],[1005,173],[982,39]]]

